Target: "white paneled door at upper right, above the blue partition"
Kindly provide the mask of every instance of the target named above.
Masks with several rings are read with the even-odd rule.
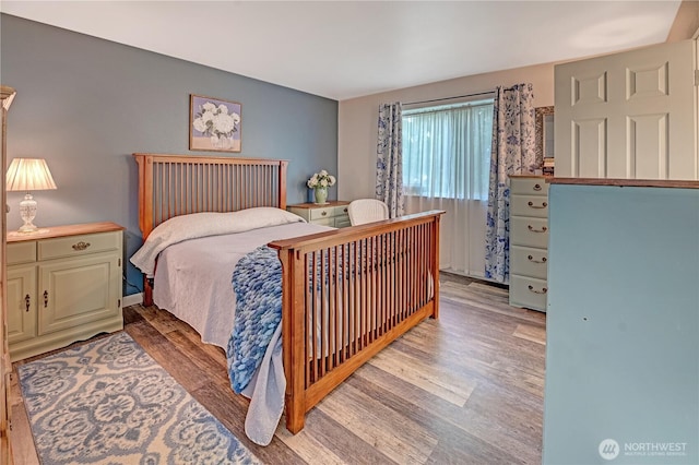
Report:
[[[556,176],[698,179],[696,41],[556,65]]]

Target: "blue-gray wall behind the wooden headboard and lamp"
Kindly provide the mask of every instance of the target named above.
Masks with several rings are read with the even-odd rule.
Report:
[[[8,163],[46,158],[58,186],[34,192],[39,227],[111,220],[127,228],[131,257],[141,246],[134,152],[288,159],[288,203],[307,200],[315,171],[337,172],[335,100],[7,14],[0,27],[0,81],[17,92]],[[242,104],[240,153],[189,151],[190,94]],[[21,199],[8,193],[10,230],[22,225]],[[126,270],[125,295],[140,291],[141,274]]]

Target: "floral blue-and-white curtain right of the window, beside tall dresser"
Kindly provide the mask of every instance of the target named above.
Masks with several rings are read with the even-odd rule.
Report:
[[[534,94],[532,84],[497,87],[493,111],[493,150],[485,250],[485,276],[498,283],[510,279],[510,175],[541,169],[534,150]]]

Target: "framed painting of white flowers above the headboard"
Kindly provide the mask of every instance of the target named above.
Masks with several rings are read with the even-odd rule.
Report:
[[[192,94],[189,105],[190,151],[240,152],[239,103]]]

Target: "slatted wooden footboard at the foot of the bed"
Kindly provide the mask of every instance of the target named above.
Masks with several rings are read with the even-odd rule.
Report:
[[[439,314],[439,220],[431,211],[270,243],[282,262],[286,427],[360,365]]]

